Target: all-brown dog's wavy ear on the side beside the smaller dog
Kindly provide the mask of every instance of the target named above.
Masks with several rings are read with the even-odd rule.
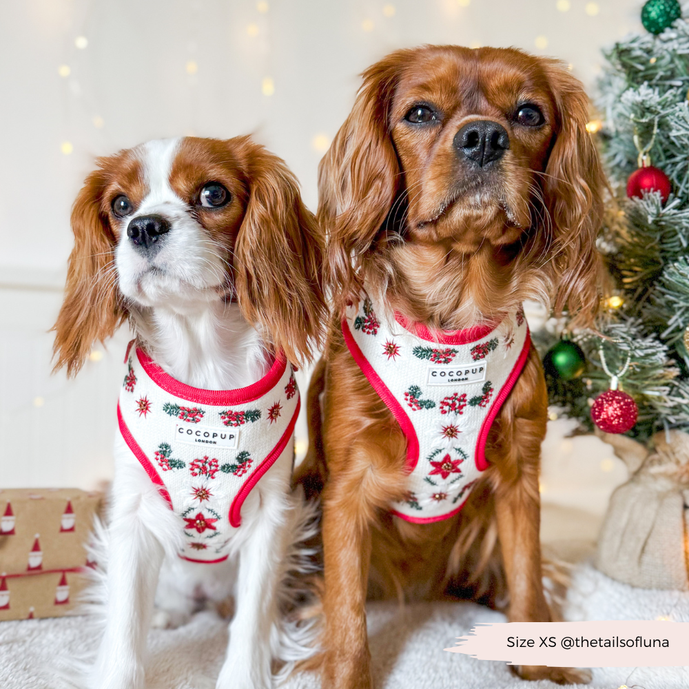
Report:
[[[358,301],[364,254],[400,184],[389,110],[402,64],[393,53],[369,67],[349,116],[318,165],[318,221],[328,236],[326,278],[336,313]]]

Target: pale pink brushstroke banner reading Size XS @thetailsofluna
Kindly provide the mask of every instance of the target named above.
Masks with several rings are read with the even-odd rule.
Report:
[[[689,622],[498,622],[477,624],[445,648],[511,665],[573,668],[689,666]]]

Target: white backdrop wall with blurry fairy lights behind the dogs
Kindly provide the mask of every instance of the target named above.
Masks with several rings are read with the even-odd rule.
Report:
[[[50,376],[47,332],[72,245],[70,205],[95,156],[149,138],[253,132],[285,158],[315,209],[318,160],[351,107],[358,74],[387,52],[420,43],[516,45],[563,59],[593,88],[601,47],[641,30],[640,7],[637,0],[0,3],[0,488],[90,489],[112,474],[128,333],[107,351],[96,347],[68,381]],[[303,424],[298,436],[301,452]],[[575,456],[566,442],[551,443],[546,460],[559,462],[558,451]],[[609,492],[624,474],[608,450],[598,452],[587,450],[582,461]],[[576,464],[562,461],[578,475]],[[562,484],[573,485],[569,475]]]

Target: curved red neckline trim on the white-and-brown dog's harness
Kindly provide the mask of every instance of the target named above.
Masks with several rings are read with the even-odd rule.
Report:
[[[234,404],[246,404],[247,402],[258,400],[258,398],[276,386],[278,380],[282,378],[282,373],[285,373],[287,368],[287,358],[285,358],[284,353],[280,352],[274,358],[268,373],[254,384],[236,390],[202,390],[191,385],[185,385],[172,378],[141,347],[136,348],[136,356],[151,380],[158,387],[165,390],[165,392],[187,400],[187,402],[213,404],[216,407],[221,407],[223,404],[227,404],[230,407]]]

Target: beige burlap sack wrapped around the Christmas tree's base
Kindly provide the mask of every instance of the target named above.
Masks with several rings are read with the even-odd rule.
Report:
[[[661,431],[650,449],[622,435],[598,435],[630,473],[610,497],[598,569],[630,586],[689,590],[689,435]]]

